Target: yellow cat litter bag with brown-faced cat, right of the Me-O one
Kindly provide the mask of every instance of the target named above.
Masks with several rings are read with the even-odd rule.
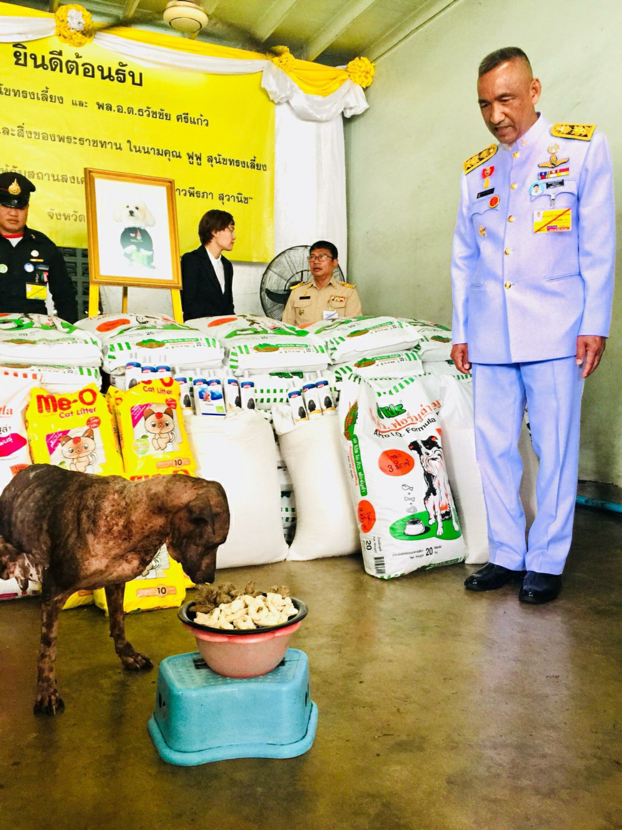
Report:
[[[197,465],[180,417],[176,380],[145,380],[127,392],[115,390],[112,399],[125,475],[130,481],[176,472],[194,475]]]

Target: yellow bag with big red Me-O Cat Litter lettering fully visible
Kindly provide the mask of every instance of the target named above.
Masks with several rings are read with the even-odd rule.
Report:
[[[26,429],[35,464],[96,476],[123,475],[112,415],[95,383],[69,395],[32,389]]]

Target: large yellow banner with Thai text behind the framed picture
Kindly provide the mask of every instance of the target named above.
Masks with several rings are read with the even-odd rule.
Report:
[[[57,37],[2,43],[0,170],[32,179],[28,224],[57,245],[86,247],[91,167],[173,178],[182,252],[219,208],[236,222],[231,258],[270,261],[275,106],[260,82],[151,69]]]

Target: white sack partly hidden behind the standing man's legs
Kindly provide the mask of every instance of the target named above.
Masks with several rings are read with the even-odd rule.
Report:
[[[466,380],[464,379],[466,378]],[[437,410],[449,484],[454,494],[460,527],[467,547],[467,564],[488,562],[486,503],[475,456],[473,383],[470,375],[426,375],[423,384]],[[536,477],[539,462],[533,452],[527,425],[523,424],[518,444],[523,462],[521,499],[527,530],[536,514]]]

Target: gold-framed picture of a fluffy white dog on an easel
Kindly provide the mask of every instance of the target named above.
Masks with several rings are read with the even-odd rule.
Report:
[[[85,168],[91,285],[180,289],[175,183]]]

